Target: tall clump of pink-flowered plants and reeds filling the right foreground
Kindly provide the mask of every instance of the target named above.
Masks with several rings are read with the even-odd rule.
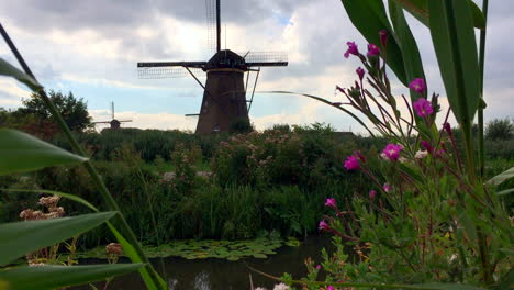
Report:
[[[346,169],[361,170],[376,189],[356,192],[351,209],[327,199],[325,205],[335,214],[320,222],[322,231],[337,236],[336,245],[345,241],[354,246],[357,263],[347,263],[338,247],[333,256],[324,254],[320,267],[310,263],[306,278],[283,280],[312,289],[505,289],[512,280],[514,236],[509,210],[499,198],[507,192],[496,193],[495,186],[512,178],[514,168],[485,182],[471,131],[477,111],[483,109],[480,63],[485,43],[481,42],[479,57],[474,27],[485,29],[484,14],[470,0],[389,0],[389,16],[382,0],[342,3],[369,44],[362,54],[356,43],[347,43],[345,56],[358,57],[364,68],[357,69],[353,87],[338,88],[348,102],[331,104],[360,111],[391,143],[382,150],[378,169],[370,166],[377,164],[376,156],[359,152],[348,156]],[[404,11],[432,34],[450,104],[440,130],[435,123],[437,94],[428,98]],[[400,113],[387,66],[410,88],[411,101],[403,98],[410,120]],[[462,129],[465,156],[447,123],[449,113]],[[321,270],[326,271],[326,280],[313,281]]]

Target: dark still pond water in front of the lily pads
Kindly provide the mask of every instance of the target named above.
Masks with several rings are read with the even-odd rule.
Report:
[[[238,261],[224,259],[197,259],[165,258],[165,270],[169,288],[172,290],[241,290],[250,289],[250,275],[254,287],[272,289],[275,282],[259,274],[249,270],[252,266],[272,276],[280,277],[283,272],[291,274],[294,278],[306,275],[304,260],[312,257],[316,263],[321,260],[321,249],[331,248],[327,236],[309,237],[299,247],[283,246],[276,255],[267,259],[245,258]],[[83,263],[83,261],[81,261]],[[102,263],[100,260],[87,260],[88,264]],[[154,267],[161,272],[160,261],[152,260]],[[98,283],[98,289],[103,285]],[[74,290],[90,290],[90,287],[77,287]],[[115,278],[108,289],[139,290],[145,289],[137,274],[125,275]]]

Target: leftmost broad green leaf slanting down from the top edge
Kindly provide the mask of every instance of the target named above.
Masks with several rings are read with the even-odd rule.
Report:
[[[393,35],[382,0],[342,0],[354,26],[372,44],[380,45],[379,32]],[[400,45],[392,37],[388,40],[387,63],[403,85],[409,86]]]

